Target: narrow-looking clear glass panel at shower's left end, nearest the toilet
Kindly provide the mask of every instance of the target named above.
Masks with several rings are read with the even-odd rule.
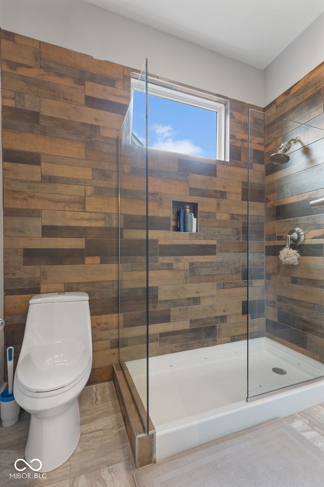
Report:
[[[136,97],[138,133],[133,133]],[[147,61],[118,137],[119,362],[148,431]],[[139,134],[140,132],[140,134]],[[131,376],[132,373],[132,376]],[[136,380],[136,384],[134,381]],[[134,387],[134,385],[136,387]]]

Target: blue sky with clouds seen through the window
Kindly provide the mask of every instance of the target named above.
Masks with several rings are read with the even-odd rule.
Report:
[[[145,144],[145,94],[134,91],[133,132]],[[148,95],[148,146],[216,157],[216,113]]]

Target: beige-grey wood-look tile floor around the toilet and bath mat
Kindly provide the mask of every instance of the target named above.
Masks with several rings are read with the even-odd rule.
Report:
[[[15,479],[14,463],[24,457],[29,415],[0,426],[0,485],[11,487],[135,487],[134,464],[112,382],[89,386],[79,397],[81,437],[71,458],[45,479]],[[324,403],[285,420],[324,451]]]

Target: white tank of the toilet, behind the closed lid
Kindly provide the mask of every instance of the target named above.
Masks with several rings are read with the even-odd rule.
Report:
[[[87,293],[37,294],[29,301],[24,349],[44,343],[82,342],[92,355],[91,317]]]

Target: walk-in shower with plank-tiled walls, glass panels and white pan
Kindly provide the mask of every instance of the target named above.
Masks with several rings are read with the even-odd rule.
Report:
[[[119,136],[119,359],[161,460],[324,398],[324,214],[309,205],[324,195],[324,132],[250,110],[242,150],[220,161],[132,145],[131,115]],[[290,161],[272,164],[285,141]],[[198,232],[177,231],[179,202]],[[296,228],[298,265],[282,264]]]

